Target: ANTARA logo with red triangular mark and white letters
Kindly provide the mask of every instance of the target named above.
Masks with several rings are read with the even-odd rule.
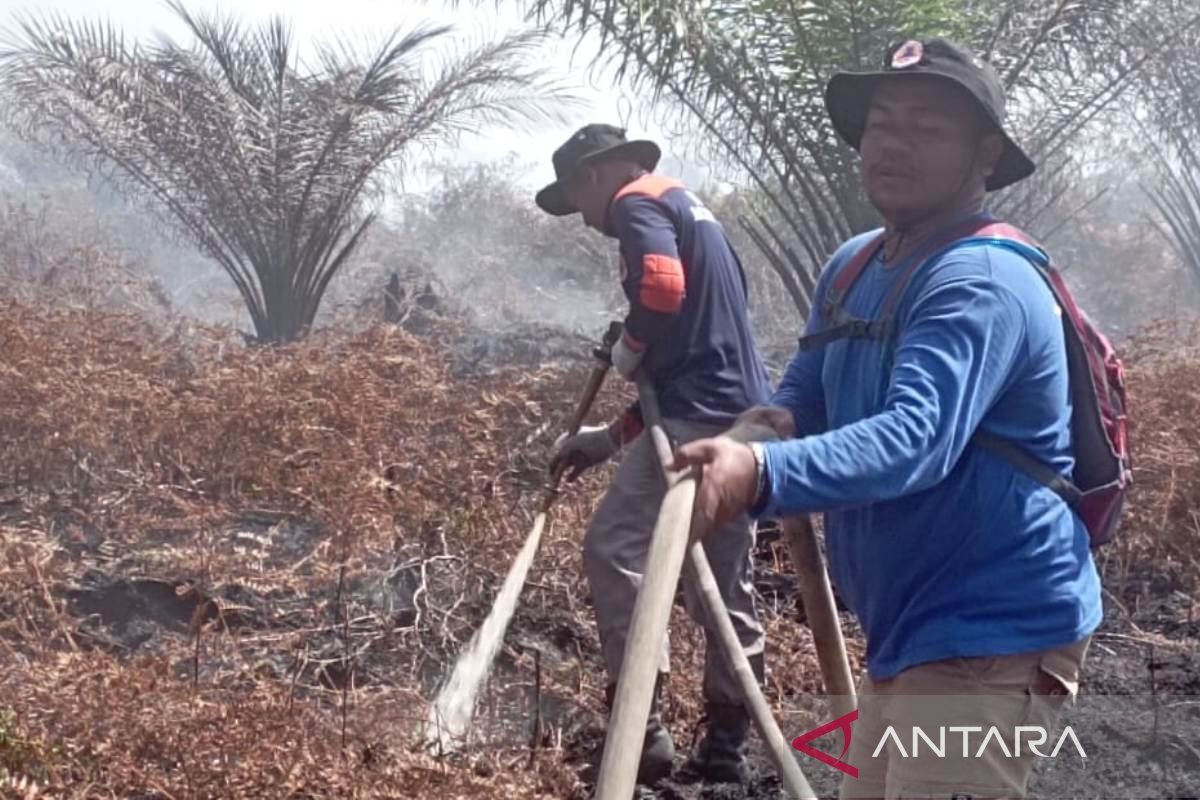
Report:
[[[797,736],[792,740],[792,747],[805,756],[810,756],[818,762],[845,772],[851,777],[858,777],[858,768],[844,760],[846,758],[846,753],[850,751],[850,739],[853,733],[853,723],[857,720],[858,709],[854,709],[850,714],[842,715],[832,722],[827,722],[823,726]],[[834,730],[842,732],[841,754],[836,758],[809,744],[815,739],[820,739],[826,734],[833,733]],[[974,736],[979,738],[976,739]],[[1045,747],[1050,735],[1045,728],[1039,726],[1016,726],[1010,739],[1012,747],[1009,747],[1009,740],[1004,738],[1000,728],[996,726],[991,726],[989,728],[983,728],[982,726],[940,726],[936,729],[936,736],[930,735],[924,728],[914,726],[912,728],[912,736],[908,740],[908,747],[905,747],[905,740],[901,739],[899,733],[896,733],[895,727],[888,726],[883,732],[883,735],[880,736],[880,741],[876,744],[874,752],[871,752],[871,758],[878,758],[880,753],[883,752],[883,747],[889,741],[893,745],[894,754],[900,758],[917,758],[920,756],[923,748],[929,752],[926,758],[946,758],[948,752],[952,758],[956,758],[958,751],[950,750],[947,744],[948,739],[950,744],[955,744],[956,740],[961,739],[962,758],[983,758],[985,753],[990,753],[992,756],[1003,753],[1004,758],[1020,758],[1022,752],[1031,752],[1038,758],[1057,758],[1058,753],[1068,741],[1075,748],[1075,752],[1080,758],[1087,758],[1087,753],[1084,752],[1084,746],[1080,744],[1079,736],[1075,735],[1075,732],[1070,726],[1063,728],[1057,744],[1050,753],[1045,753],[1040,750],[1042,747]],[[974,741],[978,741],[978,747],[972,747],[972,742]],[[1024,751],[1022,746],[1025,747]]]

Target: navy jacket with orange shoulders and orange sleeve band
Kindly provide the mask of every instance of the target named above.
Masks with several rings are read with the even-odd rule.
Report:
[[[620,241],[625,339],[644,353],[662,415],[727,423],[767,403],[742,261],[700,199],[678,181],[643,175],[613,197],[608,234]]]

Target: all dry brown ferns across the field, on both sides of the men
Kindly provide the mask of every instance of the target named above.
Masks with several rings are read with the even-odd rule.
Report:
[[[245,350],[18,303],[0,348],[0,798],[581,792],[572,726],[604,674],[578,540],[605,475],[562,498],[475,746],[438,759],[415,730],[524,537],[586,361],[466,380],[394,327]],[[1132,379],[1139,494],[1109,569],[1194,578],[1200,351],[1147,350]],[[596,417],[623,399],[613,381]],[[116,579],[173,593],[143,644],[80,606]],[[768,613],[775,702],[818,688],[788,614]],[[672,643],[685,744],[702,640],[678,608]]]

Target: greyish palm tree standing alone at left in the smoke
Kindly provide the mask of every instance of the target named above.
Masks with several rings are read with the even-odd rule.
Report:
[[[20,17],[0,48],[18,128],[83,160],[182,229],[229,275],[259,342],[301,336],[376,218],[389,168],[462,131],[571,101],[515,34],[457,56],[448,26],[396,31],[370,58],[289,26],[172,10],[194,42],[145,46],[109,24]]]

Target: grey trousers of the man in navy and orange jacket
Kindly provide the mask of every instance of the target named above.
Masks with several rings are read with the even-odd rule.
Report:
[[[667,420],[664,425],[676,444],[724,431],[722,427],[678,420]],[[592,587],[592,604],[611,684],[620,674],[634,603],[642,584],[654,523],[665,494],[666,479],[654,444],[649,435],[642,434],[626,450],[583,539],[583,567]],[[710,531],[704,540],[713,575],[746,656],[762,652],[764,639],[754,601],[754,541],[755,525],[745,515]],[[704,626],[704,699],[710,703],[740,704],[742,694],[720,650],[716,628],[707,624],[692,583],[690,570],[684,569],[688,613]],[[666,640],[662,643],[659,669],[670,669],[670,648]]]

